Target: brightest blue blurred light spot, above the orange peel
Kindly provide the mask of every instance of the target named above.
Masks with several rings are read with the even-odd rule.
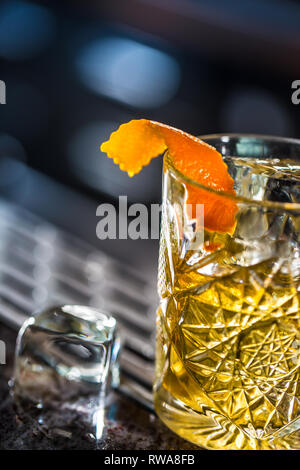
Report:
[[[137,108],[167,103],[180,83],[180,67],[173,57],[120,37],[85,45],[79,51],[76,66],[89,89]]]

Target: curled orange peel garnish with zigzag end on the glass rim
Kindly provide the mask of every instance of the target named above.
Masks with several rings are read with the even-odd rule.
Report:
[[[216,191],[235,194],[234,181],[228,173],[221,154],[211,145],[174,127],[148,119],[132,120],[122,124],[101,150],[117,163],[121,170],[133,176],[143,166],[166,149],[172,163],[193,181]],[[187,204],[193,217],[196,204],[204,204],[204,226],[207,230],[232,232],[235,225],[236,203],[224,196],[186,184]]]

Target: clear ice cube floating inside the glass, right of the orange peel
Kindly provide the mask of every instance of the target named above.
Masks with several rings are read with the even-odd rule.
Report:
[[[284,204],[300,202],[300,165],[288,159],[227,158],[237,196],[266,202],[238,204],[232,261],[253,266],[271,258],[299,259],[299,211]],[[277,207],[271,207],[272,203]],[[269,205],[268,205],[269,204]],[[299,263],[293,264],[299,275]]]

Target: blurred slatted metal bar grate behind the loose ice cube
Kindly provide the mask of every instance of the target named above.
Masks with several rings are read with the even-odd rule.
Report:
[[[0,201],[0,318],[19,329],[35,311],[66,303],[103,308],[124,338],[120,392],[152,410],[153,286],[139,272]]]

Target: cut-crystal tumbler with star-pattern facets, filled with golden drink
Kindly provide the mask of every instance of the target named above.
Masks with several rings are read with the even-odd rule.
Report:
[[[204,231],[193,250],[185,182],[166,159],[155,407],[200,446],[299,449],[300,166],[257,160],[254,143],[227,158],[234,234]]]

